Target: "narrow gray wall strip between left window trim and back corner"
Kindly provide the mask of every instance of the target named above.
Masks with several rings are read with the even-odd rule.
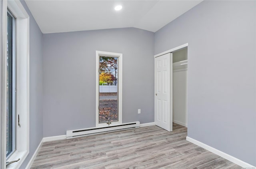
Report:
[[[38,147],[43,137],[43,75],[42,75],[42,32],[34,20],[26,3],[21,0],[22,5],[30,16],[30,140],[29,154],[23,162],[24,169]]]

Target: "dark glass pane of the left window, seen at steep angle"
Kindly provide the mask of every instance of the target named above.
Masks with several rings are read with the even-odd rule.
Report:
[[[15,18],[7,12],[7,58],[6,58],[6,157],[16,149],[16,57]]]

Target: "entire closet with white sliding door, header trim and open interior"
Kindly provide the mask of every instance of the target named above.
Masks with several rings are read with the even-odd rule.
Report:
[[[154,56],[155,125],[187,133],[188,43]]]

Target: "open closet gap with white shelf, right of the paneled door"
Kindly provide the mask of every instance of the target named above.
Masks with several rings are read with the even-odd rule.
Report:
[[[187,74],[188,48],[172,53],[172,112],[173,131],[188,127]],[[181,126],[180,126],[181,125]]]

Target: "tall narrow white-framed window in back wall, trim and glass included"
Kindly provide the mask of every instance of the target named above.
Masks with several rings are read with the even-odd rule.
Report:
[[[122,54],[96,51],[96,127],[122,123]]]

